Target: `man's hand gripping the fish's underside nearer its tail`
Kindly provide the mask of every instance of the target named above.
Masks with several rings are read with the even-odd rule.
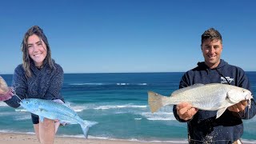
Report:
[[[176,106],[178,117],[187,121],[193,118],[198,109],[192,107],[189,103],[182,102]]]

